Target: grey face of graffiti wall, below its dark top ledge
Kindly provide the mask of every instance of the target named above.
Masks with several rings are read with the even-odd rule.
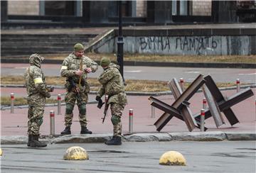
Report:
[[[250,36],[125,37],[124,52],[157,55],[251,55]],[[116,52],[117,38],[96,52]]]

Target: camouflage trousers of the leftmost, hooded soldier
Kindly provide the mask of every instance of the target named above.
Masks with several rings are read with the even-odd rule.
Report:
[[[28,135],[39,135],[44,106],[28,106]]]

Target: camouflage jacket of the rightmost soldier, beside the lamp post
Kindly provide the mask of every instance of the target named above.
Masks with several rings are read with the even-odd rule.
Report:
[[[97,79],[102,84],[97,92],[97,96],[102,97],[104,94],[110,96],[107,104],[112,102],[123,105],[127,104],[127,96],[124,93],[124,82],[118,65],[110,63],[110,67],[105,69]]]

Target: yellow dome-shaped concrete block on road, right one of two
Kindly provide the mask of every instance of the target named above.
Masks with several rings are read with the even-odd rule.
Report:
[[[183,157],[183,155],[181,155],[181,153],[176,151],[169,151],[169,152],[165,152],[164,155],[161,155],[159,164],[185,166],[186,160]]]

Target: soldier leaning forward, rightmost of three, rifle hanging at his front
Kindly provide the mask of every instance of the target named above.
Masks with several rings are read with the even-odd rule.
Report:
[[[122,135],[122,111],[127,104],[127,96],[124,93],[124,83],[122,75],[119,72],[119,66],[110,62],[107,57],[102,57],[100,65],[104,69],[104,72],[98,77],[100,84],[99,91],[97,92],[96,100],[100,101],[101,97],[105,94],[108,96],[106,104],[110,104],[111,121],[114,126],[113,137],[111,140],[105,142],[107,145],[121,145]]]

